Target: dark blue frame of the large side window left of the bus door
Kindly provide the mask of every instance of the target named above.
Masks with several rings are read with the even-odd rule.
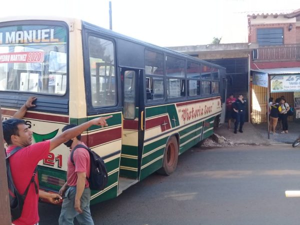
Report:
[[[85,102],[86,102],[86,113],[87,115],[94,115],[98,113],[107,113],[107,112],[115,112],[121,110],[121,80],[120,80],[120,67],[117,63],[117,41],[116,37],[105,35],[96,29],[87,28],[82,26],[82,55],[83,55],[83,77],[84,77],[84,86],[90,87],[91,79],[90,79],[90,64],[89,64],[89,48],[88,48],[88,37],[94,36],[98,38],[102,38],[105,40],[109,40],[113,44],[113,57],[114,57],[114,75],[115,75],[115,83],[116,83],[116,103],[115,105],[109,106],[93,106],[91,102],[91,90],[90,88],[85,88]]]

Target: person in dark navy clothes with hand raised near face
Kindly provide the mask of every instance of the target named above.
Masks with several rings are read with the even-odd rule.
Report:
[[[235,102],[233,103],[233,110],[235,111],[235,123],[234,123],[234,133],[237,133],[237,126],[239,123],[239,132],[242,131],[242,126],[245,120],[245,109],[246,109],[246,101],[243,100],[242,94],[239,94]]]

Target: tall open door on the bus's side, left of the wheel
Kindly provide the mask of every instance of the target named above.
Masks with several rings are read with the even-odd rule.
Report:
[[[123,120],[118,194],[138,181],[143,144],[142,70],[121,68]]]

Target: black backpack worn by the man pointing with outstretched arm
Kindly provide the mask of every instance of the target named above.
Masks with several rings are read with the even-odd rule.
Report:
[[[10,170],[10,165],[9,165],[9,157],[11,155],[13,155],[15,152],[17,152],[18,150],[20,150],[22,147],[17,146],[15,147],[11,152],[9,152],[6,155],[5,158],[5,163],[6,163],[6,174],[7,174],[7,184],[8,184],[8,195],[9,195],[9,204],[10,204],[10,214],[11,214],[11,221],[19,218],[22,214],[22,209],[23,209],[23,204],[24,204],[24,200],[25,197],[27,195],[29,186],[31,184],[31,182],[34,183],[35,186],[35,192],[38,193],[38,189],[37,189],[37,184],[34,180],[34,177],[36,175],[36,168],[33,171],[32,177],[30,179],[29,184],[27,185],[25,191],[23,194],[20,194],[17,189],[15,188],[15,185],[13,183],[12,180],[12,175],[11,175],[11,170]],[[6,152],[5,152],[6,153]]]

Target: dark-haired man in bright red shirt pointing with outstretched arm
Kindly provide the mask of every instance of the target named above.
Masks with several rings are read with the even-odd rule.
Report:
[[[8,145],[6,153],[8,154],[16,146],[22,147],[20,150],[9,157],[12,179],[19,193],[22,194],[24,192],[38,161],[46,158],[49,151],[53,150],[61,143],[73,138],[74,136],[79,135],[91,125],[107,125],[105,119],[109,117],[111,116],[98,117],[89,120],[85,123],[62,132],[61,134],[53,137],[50,140],[34,143],[32,145],[32,131],[25,124],[24,120],[17,118],[4,120],[2,122],[2,128],[4,140]],[[35,182],[38,188],[37,175],[35,176]],[[34,183],[31,183],[24,200],[22,214],[18,219],[12,221],[13,224],[33,225],[38,223],[38,196],[47,198],[50,202],[53,203],[57,203],[61,199],[58,194],[51,194],[44,191],[39,191],[36,193]]]

